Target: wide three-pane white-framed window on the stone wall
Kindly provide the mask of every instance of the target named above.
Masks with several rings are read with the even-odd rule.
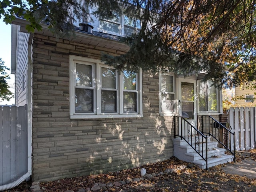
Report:
[[[142,117],[142,71],[70,55],[70,118]]]

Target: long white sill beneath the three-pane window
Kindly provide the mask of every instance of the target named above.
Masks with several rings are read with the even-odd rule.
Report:
[[[75,114],[70,115],[70,119],[104,119],[104,118],[143,118],[142,114],[107,114],[107,115],[92,115],[92,114]]]

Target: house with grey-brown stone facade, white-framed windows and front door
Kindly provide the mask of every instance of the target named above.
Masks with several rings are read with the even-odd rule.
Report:
[[[134,29],[124,17],[114,23],[94,18],[87,31],[78,29],[71,39],[56,39],[47,25],[27,33],[25,20],[13,22],[11,71],[16,105],[28,105],[32,180],[164,161],[174,155],[180,123],[190,132],[202,127],[202,116],[218,120],[222,113],[221,90],[203,82],[203,72],[184,78],[104,65],[102,51],[121,55],[129,50],[116,38]]]

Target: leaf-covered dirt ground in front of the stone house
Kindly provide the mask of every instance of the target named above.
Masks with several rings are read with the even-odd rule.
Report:
[[[254,161],[256,160],[256,150],[250,150],[250,157]],[[243,158],[246,157],[238,155],[237,161],[241,161]],[[185,166],[180,169],[180,165]],[[79,189],[90,191],[96,183],[112,183],[114,186],[103,185],[97,192],[256,192],[256,179],[226,174],[221,166],[202,170],[191,165],[191,163],[172,157],[166,161],[143,166],[148,174],[153,175],[152,178],[141,178],[140,167],[106,174],[41,182],[40,188],[43,192],[65,192],[66,190],[77,192]],[[176,171],[170,174],[160,174],[161,171],[164,172],[166,169]],[[134,178],[140,179],[135,181]],[[128,180],[130,182],[127,184]],[[126,184],[120,184],[122,181],[126,181]],[[115,185],[115,182],[119,184]],[[24,182],[7,192],[28,192],[30,186],[30,182]]]

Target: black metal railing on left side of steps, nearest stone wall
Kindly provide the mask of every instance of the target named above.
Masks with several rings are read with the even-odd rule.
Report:
[[[201,133],[196,127],[194,127],[190,122],[182,117],[177,117],[178,121],[175,120],[175,123],[178,123],[178,128],[174,129],[174,136],[181,137],[184,139],[190,147],[204,159],[206,163],[206,169],[208,168],[208,154],[207,154],[207,146],[208,146],[208,136]],[[205,145],[204,145],[205,143]]]

